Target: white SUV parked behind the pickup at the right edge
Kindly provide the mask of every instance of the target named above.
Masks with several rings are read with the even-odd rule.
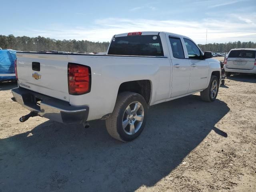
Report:
[[[224,61],[226,76],[232,73],[256,74],[256,49],[232,49]]]

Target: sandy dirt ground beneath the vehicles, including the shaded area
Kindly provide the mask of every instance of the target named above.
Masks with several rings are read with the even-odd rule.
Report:
[[[199,94],[150,107],[130,143],[34,117],[0,84],[0,192],[256,191],[256,78],[234,75],[215,102]]]

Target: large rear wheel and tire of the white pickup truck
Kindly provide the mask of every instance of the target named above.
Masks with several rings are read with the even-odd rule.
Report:
[[[139,107],[136,108],[136,104]],[[135,108],[137,110],[134,110]],[[140,94],[122,92],[117,96],[116,104],[110,118],[106,119],[107,131],[110,136],[117,140],[122,142],[132,141],[143,131],[147,114],[148,105]]]

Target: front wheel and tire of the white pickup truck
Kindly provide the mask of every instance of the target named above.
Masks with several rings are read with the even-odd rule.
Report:
[[[213,82],[215,82],[216,84],[215,83],[213,84]],[[213,86],[214,86],[214,90],[216,92],[215,95],[212,94]],[[217,86],[217,87],[215,87],[215,86]],[[200,92],[200,96],[203,101],[212,102],[216,99],[216,97],[218,95],[218,91],[219,91],[219,80],[215,75],[212,75],[208,87],[205,90]]]

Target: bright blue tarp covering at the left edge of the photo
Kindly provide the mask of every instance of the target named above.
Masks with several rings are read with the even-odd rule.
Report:
[[[14,61],[16,51],[11,49],[0,50],[0,81],[15,80]],[[10,74],[10,76],[8,76]]]

